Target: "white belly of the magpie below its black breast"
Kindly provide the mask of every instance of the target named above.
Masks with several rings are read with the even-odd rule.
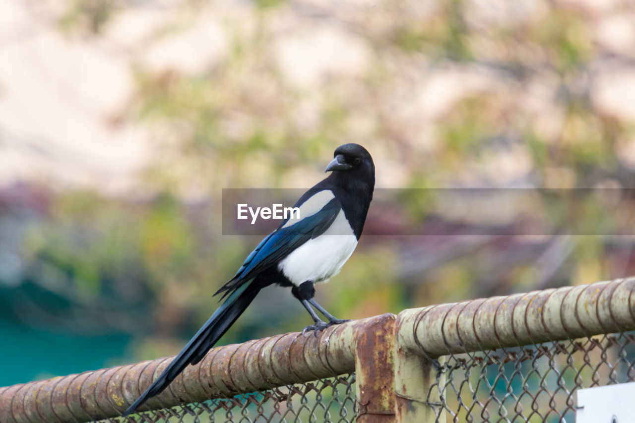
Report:
[[[340,272],[357,243],[344,211],[340,211],[323,234],[299,246],[278,264],[278,269],[293,285],[326,282]]]

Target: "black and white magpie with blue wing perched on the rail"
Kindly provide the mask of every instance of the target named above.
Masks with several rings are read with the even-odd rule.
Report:
[[[316,302],[314,285],[335,276],[357,246],[373,198],[375,164],[364,147],[349,143],[335,149],[325,172],[330,172],[328,177],[293,206],[299,212],[267,235],[214,294],[222,294],[219,301],[224,302],[122,416],[163,392],[188,365],[199,363],[266,286],[290,287],[304,305],[314,323],[304,328],[303,335],[313,331],[317,336],[331,325],[349,321],[335,318]]]

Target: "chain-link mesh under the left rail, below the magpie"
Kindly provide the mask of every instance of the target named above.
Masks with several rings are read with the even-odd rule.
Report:
[[[355,375],[190,403],[100,422],[333,422],[356,419]]]

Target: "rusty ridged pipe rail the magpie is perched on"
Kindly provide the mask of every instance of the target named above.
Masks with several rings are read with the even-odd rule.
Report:
[[[356,359],[363,360],[371,351],[366,340],[360,347],[361,354],[357,354],[356,339],[363,339],[361,333],[381,333],[387,326],[392,335],[392,323],[394,316],[384,314],[331,326],[319,337],[286,333],[217,347],[201,363],[187,366],[141,410],[231,398],[238,393],[353,372]],[[117,417],[173,358],[0,387],[0,422],[85,422]],[[370,405],[372,401],[364,399],[364,403]]]

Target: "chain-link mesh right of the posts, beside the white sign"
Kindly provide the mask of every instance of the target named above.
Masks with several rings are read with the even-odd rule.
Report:
[[[632,382],[634,365],[633,332],[452,354],[425,401],[438,422],[573,422],[577,389]]]

